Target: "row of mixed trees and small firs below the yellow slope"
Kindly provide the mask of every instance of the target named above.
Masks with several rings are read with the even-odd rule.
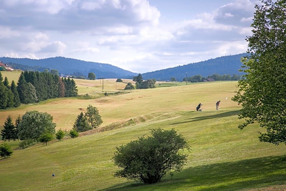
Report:
[[[16,118],[15,123],[8,115],[4,122],[0,135],[2,140],[23,140],[19,143],[20,148],[26,148],[37,142],[46,143],[54,139],[61,140],[66,134],[75,138],[79,132],[97,128],[103,121],[96,107],[89,105],[86,112],[81,112],[74,123],[73,129],[69,132],[59,129],[55,130],[56,123],[53,116],[47,112],[27,111],[22,117]]]

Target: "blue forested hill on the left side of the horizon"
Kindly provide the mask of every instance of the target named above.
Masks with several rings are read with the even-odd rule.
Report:
[[[103,64],[98,62],[87,62],[73,58],[54,57],[45,59],[30,59],[30,58],[8,58],[1,57],[0,61],[4,63],[16,63],[26,66],[40,66],[40,68],[56,69],[61,74],[72,74],[75,72],[83,73],[85,77],[89,72],[96,74],[97,78],[129,78],[137,76],[133,73],[117,66]]]

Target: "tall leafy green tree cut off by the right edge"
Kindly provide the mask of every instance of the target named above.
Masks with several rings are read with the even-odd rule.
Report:
[[[286,3],[285,0],[262,0],[256,5],[246,38],[249,56],[242,59],[246,74],[238,82],[233,101],[242,105],[239,118],[247,125],[258,122],[265,132],[260,141],[286,144]]]

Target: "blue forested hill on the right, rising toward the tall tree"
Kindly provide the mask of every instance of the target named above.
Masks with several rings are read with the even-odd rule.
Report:
[[[143,73],[143,79],[160,79],[160,80],[170,80],[171,77],[175,77],[177,81],[183,81],[183,78],[201,75],[203,77],[208,77],[212,74],[237,74],[243,75],[243,73],[238,70],[241,69],[242,63],[240,62],[241,57],[246,56],[246,53],[238,55],[221,56],[218,58],[209,59],[202,62],[190,63],[187,65],[181,65],[174,68],[157,70],[154,72]]]

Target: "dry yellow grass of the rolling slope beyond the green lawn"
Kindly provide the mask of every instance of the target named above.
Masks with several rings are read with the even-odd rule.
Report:
[[[94,91],[101,91],[100,88],[93,87],[99,83],[99,80],[75,79],[75,81],[79,87],[85,87],[88,90],[94,88]],[[103,92],[116,91],[111,89],[115,87],[115,81],[116,79],[104,79],[103,83],[106,84],[106,90],[104,89]],[[128,94],[90,100],[57,98],[35,105],[23,105],[19,108],[1,110],[0,125],[4,124],[8,115],[11,115],[15,120],[18,115],[23,115],[26,111],[37,110],[51,114],[54,118],[53,121],[57,124],[56,129],[69,130],[72,129],[77,115],[81,111],[84,112],[89,104],[98,108],[103,119],[101,126],[162,111],[195,111],[199,102],[203,103],[203,110],[212,110],[215,109],[216,101],[221,100],[220,108],[226,110],[230,107],[237,107],[237,104],[230,99],[234,95],[236,84],[236,82],[218,82],[132,90]],[[82,93],[81,88],[79,88],[79,94],[86,93]],[[180,96],[178,97],[178,95]],[[226,97],[228,97],[227,100],[225,100]]]

